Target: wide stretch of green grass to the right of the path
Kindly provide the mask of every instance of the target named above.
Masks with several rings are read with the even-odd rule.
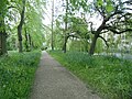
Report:
[[[132,99],[132,62],[78,52],[50,54],[105,99]]]

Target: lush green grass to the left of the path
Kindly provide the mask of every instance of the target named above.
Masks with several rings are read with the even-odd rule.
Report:
[[[0,99],[28,99],[40,62],[38,51],[0,57]]]

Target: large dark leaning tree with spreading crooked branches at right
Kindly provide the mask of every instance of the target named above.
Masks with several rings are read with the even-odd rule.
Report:
[[[114,34],[132,31],[132,29],[129,28],[130,24],[127,22],[128,19],[131,19],[132,13],[125,11],[128,8],[125,8],[124,4],[130,4],[130,1],[99,0],[95,2],[95,10],[102,16],[102,23],[96,31],[91,30],[94,38],[89,51],[90,55],[95,52],[98,37],[102,38],[107,44],[107,41],[100,34],[107,33],[108,31],[111,31]]]

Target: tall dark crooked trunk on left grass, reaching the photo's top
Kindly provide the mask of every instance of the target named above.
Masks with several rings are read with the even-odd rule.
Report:
[[[19,37],[19,52],[22,53],[22,25],[24,23],[24,12],[25,12],[25,0],[22,0],[23,2],[23,9],[21,13],[21,21],[18,25],[18,37]]]

